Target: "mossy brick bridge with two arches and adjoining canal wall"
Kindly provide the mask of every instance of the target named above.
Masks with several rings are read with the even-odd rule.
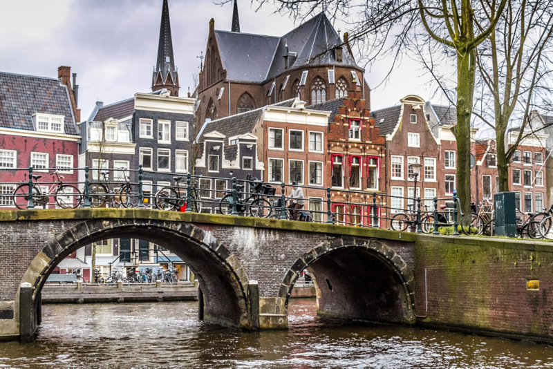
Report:
[[[553,341],[553,243],[148,209],[0,211],[0,339],[32,339],[59,261],[119,237],[180,256],[198,278],[200,315],[223,325],[288,328],[308,268],[319,314]]]

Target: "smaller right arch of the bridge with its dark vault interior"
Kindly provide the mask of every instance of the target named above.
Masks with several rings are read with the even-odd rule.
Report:
[[[288,270],[279,290],[286,308],[299,274],[310,268],[319,314],[415,323],[414,274],[403,258],[378,240],[337,241],[310,249]]]

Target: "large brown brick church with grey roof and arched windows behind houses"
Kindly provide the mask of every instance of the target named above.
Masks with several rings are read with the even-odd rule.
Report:
[[[209,21],[196,122],[294,97],[307,105],[320,104],[347,97],[352,90],[370,101],[364,70],[355,63],[348,34],[342,41],[324,12],[282,37],[254,35],[241,32],[235,0],[230,31],[216,30],[214,19]]]

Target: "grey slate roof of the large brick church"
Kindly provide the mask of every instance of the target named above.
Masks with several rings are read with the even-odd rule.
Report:
[[[283,37],[252,35],[216,30],[215,35],[227,78],[239,82],[264,82],[288,69],[321,64],[357,66],[348,48],[342,61],[332,50],[342,43],[324,12],[301,24]],[[288,49],[287,46],[288,45]]]

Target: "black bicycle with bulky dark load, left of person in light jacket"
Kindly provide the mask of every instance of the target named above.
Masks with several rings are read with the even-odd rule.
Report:
[[[265,183],[258,181],[257,178],[250,176],[250,174],[247,175],[246,180],[254,183],[256,182],[256,184],[254,190],[247,198],[244,198],[244,185],[236,185],[236,211],[238,211],[238,213],[246,213],[249,211],[250,215],[256,218],[270,217],[272,206],[270,202],[265,199],[265,196],[274,196],[277,189],[270,185],[265,185]],[[223,196],[219,202],[221,214],[232,214],[232,205],[234,202],[232,191],[232,189],[227,189],[225,191],[227,195]]]

